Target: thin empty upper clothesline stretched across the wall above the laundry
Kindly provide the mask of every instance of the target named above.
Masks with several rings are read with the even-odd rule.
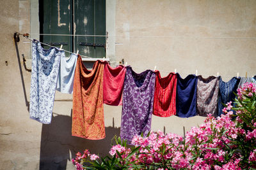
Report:
[[[256,39],[256,37],[205,37],[205,36],[109,36],[83,34],[31,34],[40,36],[89,36],[89,37],[131,37],[131,38],[177,38],[177,39]]]

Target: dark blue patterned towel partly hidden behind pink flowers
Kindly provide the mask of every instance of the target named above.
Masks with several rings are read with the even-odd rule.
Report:
[[[227,104],[230,101],[235,101],[236,95],[233,92],[237,93],[237,87],[239,82],[240,78],[236,77],[231,78],[228,82],[225,82],[220,78],[220,88],[218,95],[218,116],[223,114],[223,104]],[[234,103],[232,103],[232,106],[233,104]]]

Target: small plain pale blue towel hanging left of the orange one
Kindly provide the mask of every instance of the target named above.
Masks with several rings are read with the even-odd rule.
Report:
[[[67,60],[65,57],[65,52],[61,51],[60,71],[56,90],[68,94],[73,93],[76,61],[77,55],[72,53],[70,58]]]

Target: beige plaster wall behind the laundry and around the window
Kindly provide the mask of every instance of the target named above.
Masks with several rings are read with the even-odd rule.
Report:
[[[256,37],[256,1],[111,1],[116,5],[111,41],[118,43],[113,65],[124,59],[138,73],[157,66],[162,76],[177,69],[185,77],[197,69],[204,76],[219,72],[224,80],[237,72],[256,73],[256,39],[178,38]],[[71,136],[72,102],[67,99],[72,95],[56,92],[52,124],[29,119],[30,73],[22,54],[29,58],[30,44],[20,38],[17,51],[12,36],[30,31],[30,1],[3,1],[0,11],[0,169],[74,169],[70,159],[77,151],[108,153],[111,138],[120,132],[121,107],[104,106],[106,139],[99,141]],[[152,129],[183,135],[183,126],[188,131],[203,120],[153,117]]]

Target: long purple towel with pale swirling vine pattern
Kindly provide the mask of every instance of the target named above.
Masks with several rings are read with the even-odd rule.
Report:
[[[140,74],[127,66],[124,80],[122,123],[120,136],[131,143],[133,136],[151,129],[156,74],[147,70]]]

